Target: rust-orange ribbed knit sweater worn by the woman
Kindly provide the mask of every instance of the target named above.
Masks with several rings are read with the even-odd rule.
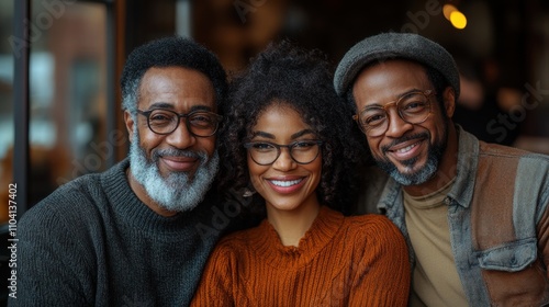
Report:
[[[299,247],[264,220],[223,238],[191,306],[406,306],[406,243],[384,216],[325,206]]]

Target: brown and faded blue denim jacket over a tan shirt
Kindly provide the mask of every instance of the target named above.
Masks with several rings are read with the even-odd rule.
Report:
[[[457,178],[445,203],[469,305],[549,304],[549,157],[479,141],[457,128]],[[378,213],[401,229],[414,268],[401,190],[388,179],[380,198],[366,196],[361,209],[377,204]]]

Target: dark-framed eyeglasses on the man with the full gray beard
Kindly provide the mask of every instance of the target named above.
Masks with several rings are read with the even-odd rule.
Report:
[[[153,109],[149,111],[137,110],[137,113],[147,117],[148,128],[159,135],[171,134],[179,126],[179,118],[187,117],[187,129],[193,136],[208,137],[215,134],[221,120],[223,120],[223,116],[208,111],[178,114],[171,110]]]

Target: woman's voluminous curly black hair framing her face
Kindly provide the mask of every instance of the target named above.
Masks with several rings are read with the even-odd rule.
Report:
[[[323,141],[318,200],[349,214],[365,155],[361,135],[354,128],[352,110],[336,94],[325,55],[288,39],[270,44],[229,86],[219,135],[220,190],[234,194],[248,187],[247,151],[243,144],[261,113],[273,103],[293,107]],[[257,209],[264,207],[265,201],[256,194],[253,203]]]

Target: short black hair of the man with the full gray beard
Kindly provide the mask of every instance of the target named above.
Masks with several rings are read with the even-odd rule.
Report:
[[[226,95],[227,78],[217,57],[191,38],[169,36],[135,48],[126,59],[120,84],[122,107],[132,114],[137,109],[139,83],[152,67],[183,67],[195,69],[212,81],[215,101],[220,105]]]

